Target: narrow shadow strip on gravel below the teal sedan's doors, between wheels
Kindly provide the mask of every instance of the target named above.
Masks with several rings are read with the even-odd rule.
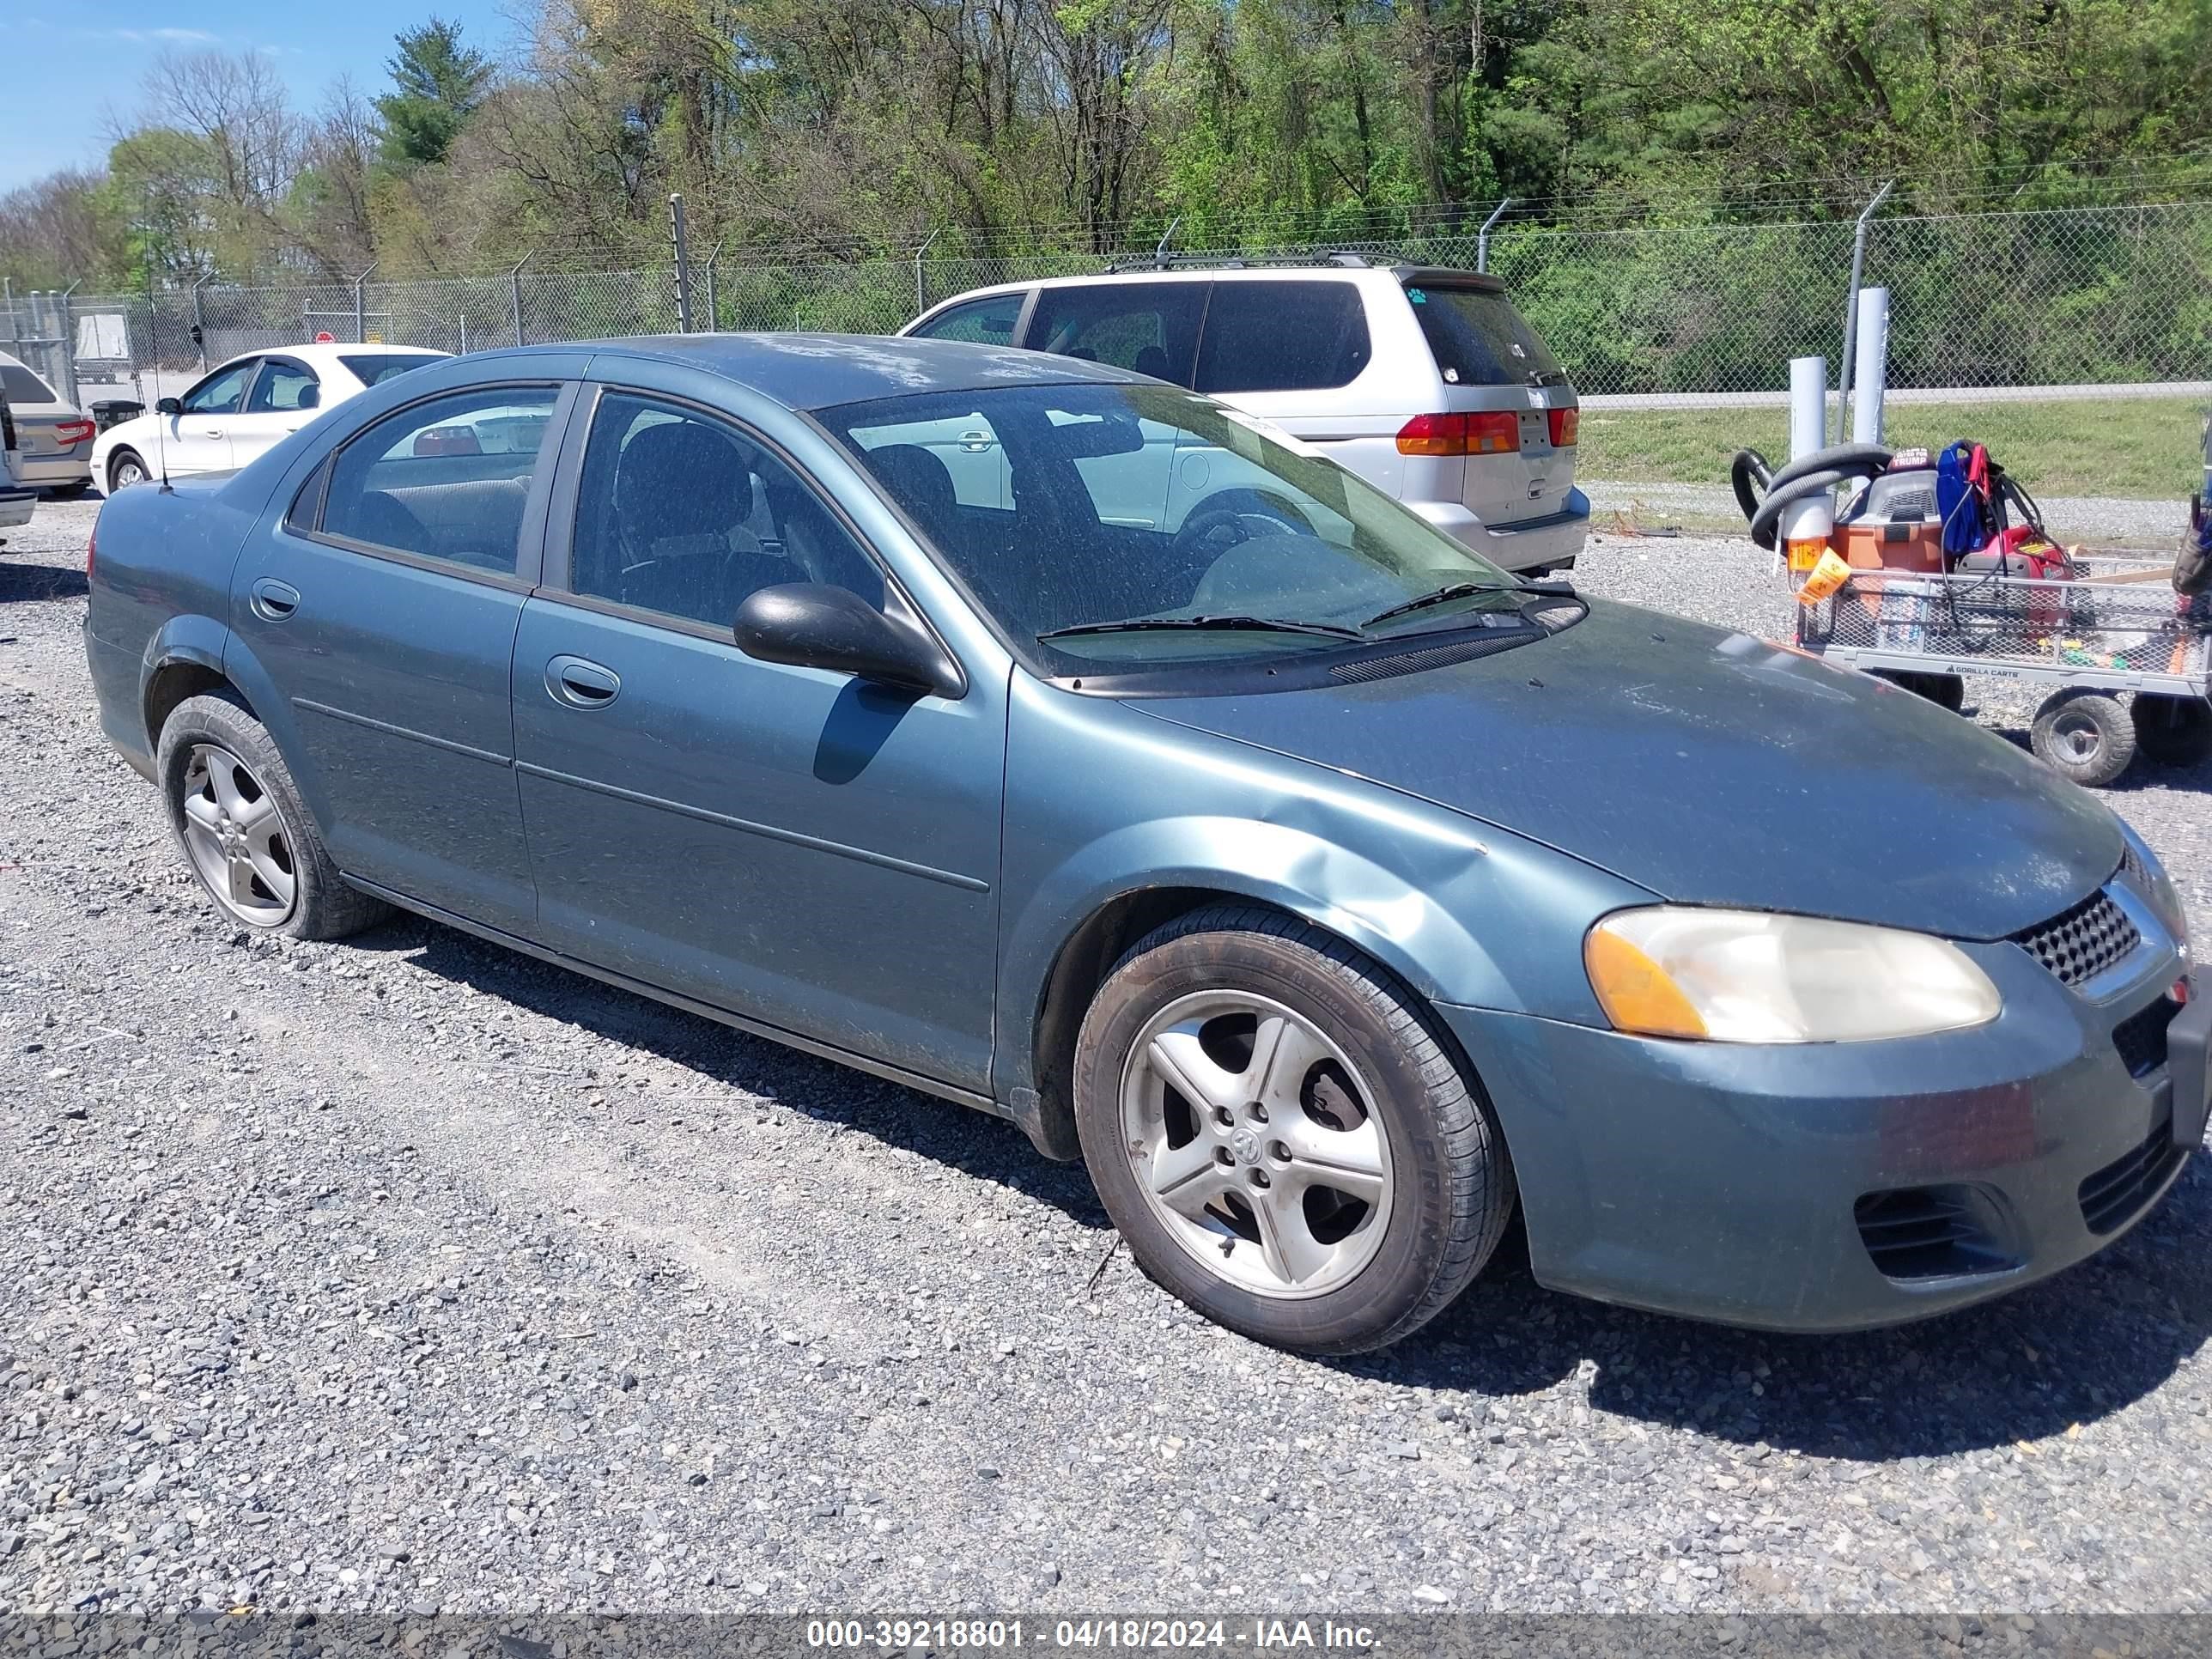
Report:
[[[1040,1157],[1013,1124],[411,916],[347,945],[411,953],[427,973],[641,1048],[697,1073],[701,1084],[741,1088],[980,1181],[998,1181],[1099,1228],[1099,1248],[1106,1248],[1106,1212],[1091,1177],[1079,1166]]]

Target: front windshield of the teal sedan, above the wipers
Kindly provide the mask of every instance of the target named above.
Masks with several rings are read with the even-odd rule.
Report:
[[[1526,602],[1389,495],[1190,392],[1009,387],[821,418],[1055,675],[1345,650]]]

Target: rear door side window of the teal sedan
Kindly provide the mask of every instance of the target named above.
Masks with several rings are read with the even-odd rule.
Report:
[[[338,451],[323,533],[513,575],[555,398],[482,387],[385,416]]]

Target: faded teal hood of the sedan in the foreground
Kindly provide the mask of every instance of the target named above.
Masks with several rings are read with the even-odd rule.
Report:
[[[1936,703],[1593,602],[1475,661],[1150,714],[1548,843],[1661,898],[2002,938],[2097,889],[2106,807]]]

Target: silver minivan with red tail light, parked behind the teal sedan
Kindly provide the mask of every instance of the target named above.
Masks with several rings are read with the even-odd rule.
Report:
[[[1579,398],[1495,276],[1354,254],[1170,263],[978,288],[900,334],[1060,352],[1203,392],[1513,571],[1573,566],[1590,524],[1575,489]],[[991,489],[989,456],[969,449],[956,482]]]

